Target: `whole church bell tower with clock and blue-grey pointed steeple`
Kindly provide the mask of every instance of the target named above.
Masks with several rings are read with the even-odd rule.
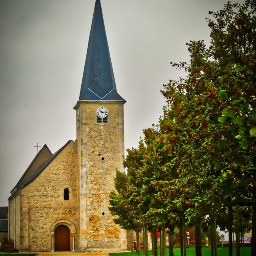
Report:
[[[110,60],[100,0],[96,0],[76,110],[80,164],[80,251],[127,248],[126,231],[108,211],[116,169],[123,171],[124,103]]]

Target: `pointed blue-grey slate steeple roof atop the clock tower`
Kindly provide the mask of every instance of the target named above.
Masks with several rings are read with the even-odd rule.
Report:
[[[100,0],[96,0],[79,100],[125,101],[116,91]]]

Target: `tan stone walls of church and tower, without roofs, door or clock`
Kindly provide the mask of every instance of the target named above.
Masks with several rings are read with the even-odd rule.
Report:
[[[116,169],[124,172],[124,102],[104,102],[108,122],[97,123],[103,102],[77,105],[77,140],[9,200],[9,237],[24,252],[54,251],[54,228],[70,229],[70,250],[127,249],[126,230],[108,211]],[[64,200],[64,189],[69,200]],[[15,191],[15,190],[14,190]]]

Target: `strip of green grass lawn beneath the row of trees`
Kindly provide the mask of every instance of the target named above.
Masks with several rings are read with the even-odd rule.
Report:
[[[187,256],[195,256],[195,248],[187,248],[186,250]],[[117,252],[117,253],[110,253],[110,256],[136,256],[136,252]],[[144,252],[140,251],[140,256],[144,256]],[[148,256],[151,255],[151,250],[148,252]],[[160,252],[158,250],[158,256]],[[169,255],[169,250],[166,249],[166,256]],[[217,255],[218,256],[228,256],[228,248],[217,248]],[[240,256],[249,256],[251,255],[251,248],[245,247],[240,249]],[[174,249],[174,256],[180,256],[180,249]],[[202,256],[211,256],[211,248],[202,248]],[[236,256],[236,248],[233,248],[233,256]]]

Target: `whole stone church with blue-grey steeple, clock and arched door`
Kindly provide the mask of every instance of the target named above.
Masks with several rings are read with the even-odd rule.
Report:
[[[76,140],[44,145],[8,199],[8,232],[20,252],[122,251],[126,230],[108,211],[116,169],[124,172],[124,103],[96,0],[76,111]],[[74,102],[75,104],[75,102]]]

